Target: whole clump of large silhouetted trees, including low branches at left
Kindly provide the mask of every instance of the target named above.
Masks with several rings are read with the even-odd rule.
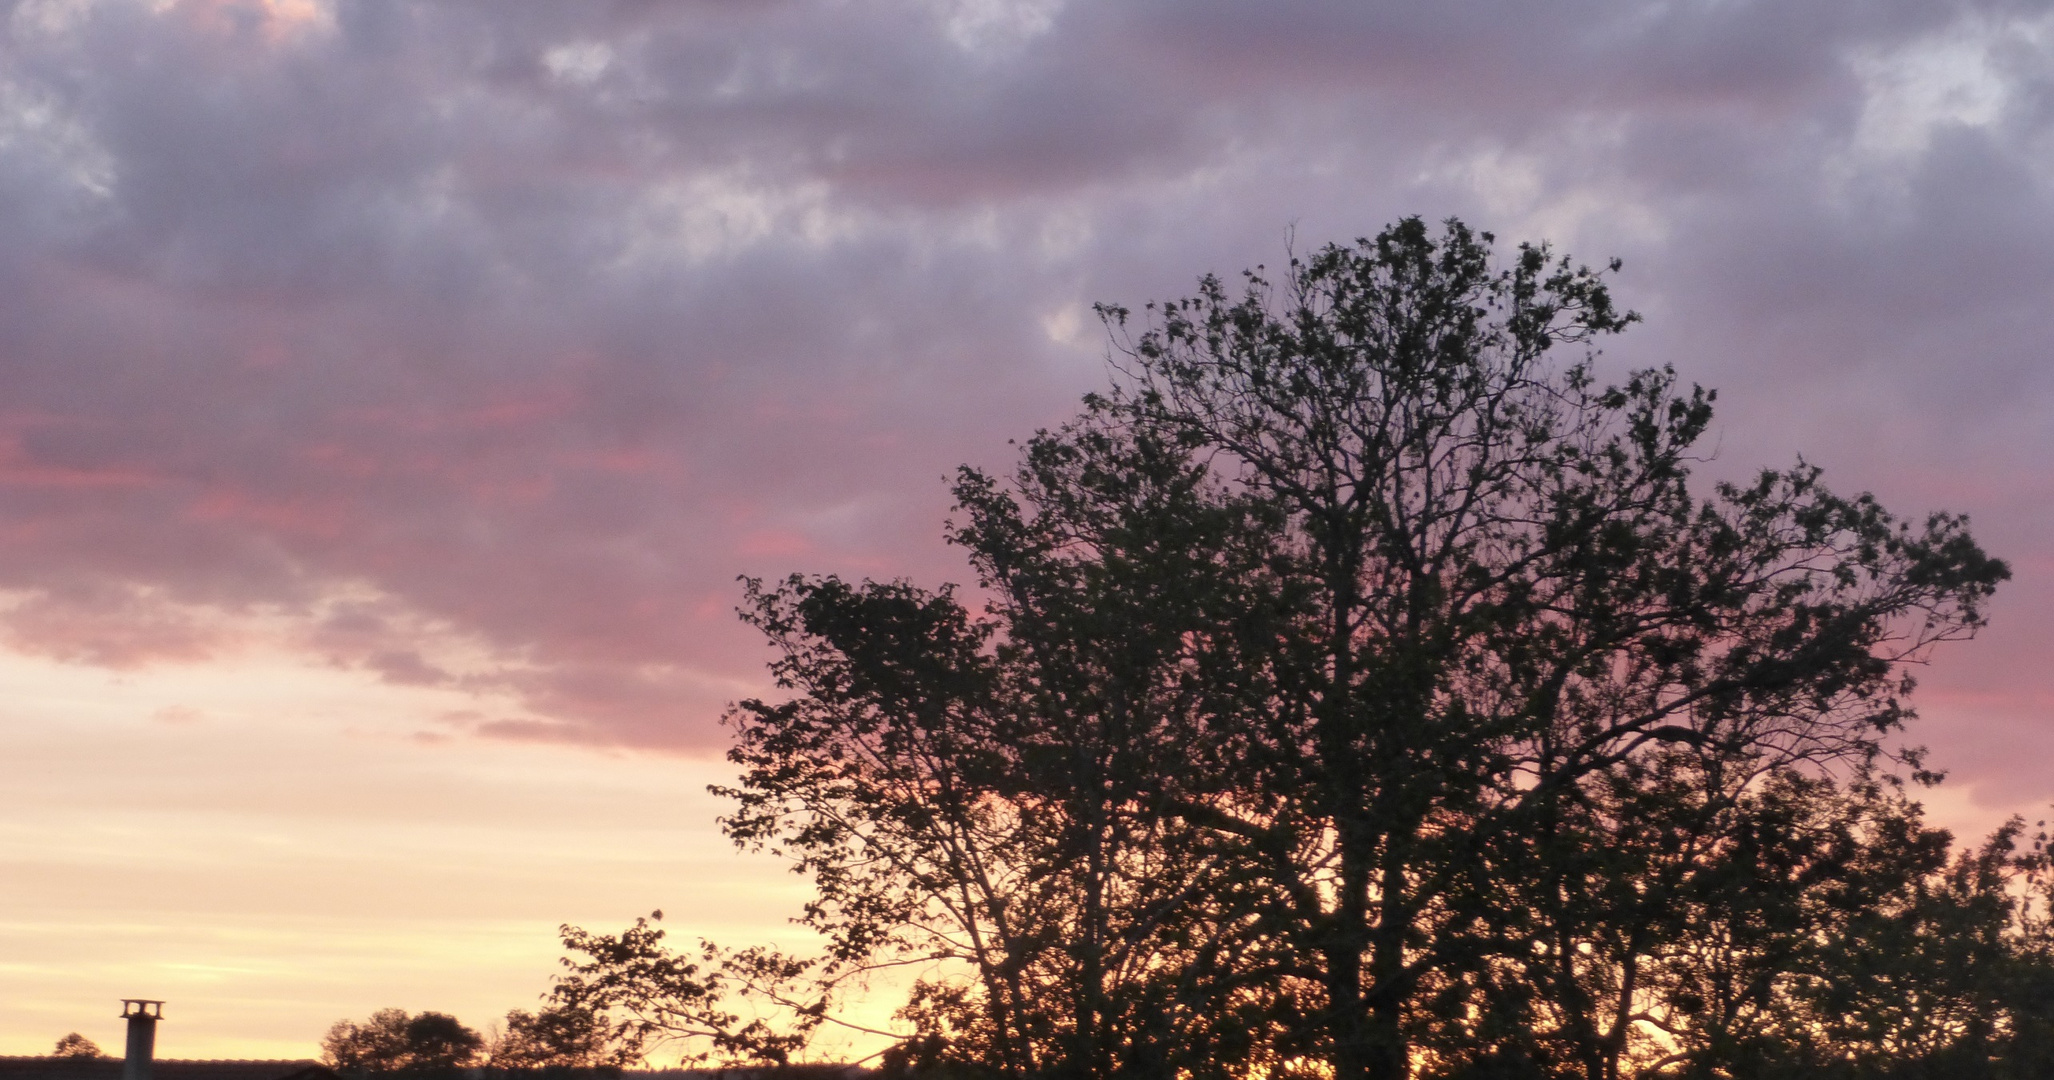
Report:
[[[2009,577],[1964,519],[1695,489],[1713,394],[1600,384],[1604,275],[1458,222],[1101,314],[1113,388],[955,480],[980,606],[748,583],[723,827],[824,955],[567,928],[548,1008],[781,1062],[904,967],[898,1076],[2054,1070],[2046,840],[1957,850],[1898,749]]]

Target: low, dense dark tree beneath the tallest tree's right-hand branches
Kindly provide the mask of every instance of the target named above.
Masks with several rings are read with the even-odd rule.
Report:
[[[1656,776],[1588,805],[1577,875],[1518,891],[1497,1045],[1584,1076],[1886,1076],[1999,1051],[2013,825],[1951,836],[1884,776]],[[1625,788],[1625,784],[1621,784]],[[1510,1045],[1506,1045],[1510,1043]]]

